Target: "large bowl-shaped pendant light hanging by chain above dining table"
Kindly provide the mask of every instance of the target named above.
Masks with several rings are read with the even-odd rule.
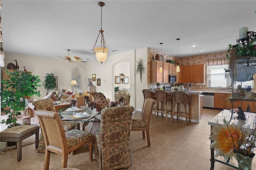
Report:
[[[100,41],[101,46],[95,47],[95,45],[97,43],[97,40],[96,40],[92,50],[93,50],[94,54],[96,55],[96,59],[102,63],[102,62],[106,61],[107,56],[108,56],[108,49],[106,47],[105,39],[103,36],[104,31],[102,30],[102,6],[104,6],[105,4],[104,4],[104,2],[98,2],[98,5],[101,8],[101,11],[100,11],[101,18],[100,18],[100,30],[99,30],[100,33],[98,34],[97,40],[98,40],[99,36],[101,35],[101,41]],[[103,47],[102,47],[102,43],[103,43]]]

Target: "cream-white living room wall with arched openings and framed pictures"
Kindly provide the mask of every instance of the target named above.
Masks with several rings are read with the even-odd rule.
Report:
[[[112,53],[112,52],[110,52]],[[78,63],[66,63],[65,61],[60,61],[59,59],[50,59],[44,57],[20,55],[14,53],[5,52],[5,67],[1,67],[1,79],[2,79],[2,69],[7,69],[8,63],[15,63],[14,60],[18,60],[20,70],[24,70],[23,66],[26,66],[27,71],[32,71],[33,75],[38,75],[41,80],[41,85],[44,82],[44,76],[46,73],[54,73],[54,76],[58,76],[58,87],[60,89],[68,89],[71,91],[72,87],[70,85],[72,69],[75,70],[77,75],[81,75],[82,89],[89,91],[88,78],[92,78],[92,74],[96,74],[96,79],[101,79],[101,85],[97,86],[96,81],[93,84],[96,85],[96,91],[102,92],[107,98],[114,101],[114,87],[116,74],[124,73],[124,75],[129,75],[129,88],[130,88],[130,105],[132,105],[136,110],[141,110],[143,105],[143,95],[142,89],[147,88],[147,47],[137,50],[131,50],[124,53],[119,53],[116,55],[110,55],[105,62],[102,64],[95,61],[90,61],[88,63],[78,62]],[[142,83],[138,75],[135,75],[135,65],[138,57],[143,57],[144,60],[144,74],[142,75]],[[125,61],[125,62],[124,62]],[[129,65],[129,73],[125,73],[122,69],[118,70],[118,64],[126,63]],[[129,64],[128,64],[129,63]],[[117,65],[117,73],[115,72],[115,67]],[[126,69],[127,70],[127,67]],[[121,72],[120,72],[121,71]],[[120,72],[120,73],[119,73]],[[76,78],[76,76],[75,76]],[[123,84],[124,85],[124,84]],[[126,87],[124,87],[126,88]],[[41,97],[30,97],[32,101],[34,99],[42,99],[46,95],[46,90],[44,87],[39,87]],[[50,92],[53,92],[51,90]]]

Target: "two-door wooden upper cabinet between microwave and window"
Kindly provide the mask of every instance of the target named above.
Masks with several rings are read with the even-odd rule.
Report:
[[[204,83],[204,72],[204,64],[183,66],[183,83]]]

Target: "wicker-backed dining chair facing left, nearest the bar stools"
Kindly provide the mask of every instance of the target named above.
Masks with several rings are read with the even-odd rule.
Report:
[[[142,130],[142,137],[145,138],[145,130],[147,132],[148,146],[150,146],[150,135],[149,135],[149,124],[152,117],[152,111],[156,101],[154,99],[145,100],[145,109],[142,115],[142,119],[132,119],[132,128],[131,131]]]

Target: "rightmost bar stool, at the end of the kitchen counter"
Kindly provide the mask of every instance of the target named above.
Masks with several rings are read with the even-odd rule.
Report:
[[[173,119],[173,116],[176,115],[177,116],[177,119],[178,119],[178,116],[184,116],[186,117],[186,122],[187,122],[187,126],[188,126],[188,121],[190,121],[190,111],[191,111],[191,96],[188,95],[188,93],[184,92],[184,91],[174,91],[172,93],[173,95],[173,101],[174,101],[174,104],[173,104],[173,110],[175,109],[175,106],[177,104],[177,111],[176,112],[172,112],[172,118],[171,118],[171,122],[172,122],[172,119]],[[183,111],[180,111],[180,103],[182,103],[184,105],[184,112]],[[187,113],[187,105],[189,104],[189,110],[188,110],[188,113]],[[181,114],[182,115],[181,115]]]

